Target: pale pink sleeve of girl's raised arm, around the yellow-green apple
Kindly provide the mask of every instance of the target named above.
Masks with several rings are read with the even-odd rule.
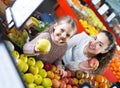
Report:
[[[35,50],[34,50],[35,44],[41,38],[49,39],[48,36],[49,36],[48,33],[40,33],[33,40],[25,43],[25,45],[23,46],[23,53],[27,55],[39,55],[39,53],[35,53]]]

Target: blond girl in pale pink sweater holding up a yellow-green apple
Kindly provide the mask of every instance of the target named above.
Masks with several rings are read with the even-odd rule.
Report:
[[[50,25],[45,31],[40,33],[30,42],[23,46],[23,52],[28,55],[39,55],[38,58],[44,62],[54,63],[59,57],[62,57],[67,50],[66,42],[77,31],[75,20],[70,16],[64,16]],[[48,39],[51,43],[51,49],[47,54],[38,53],[35,44],[39,39]]]

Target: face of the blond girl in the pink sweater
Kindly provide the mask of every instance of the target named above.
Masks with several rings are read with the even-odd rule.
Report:
[[[74,34],[71,25],[68,23],[55,24],[53,32],[54,42],[57,44],[66,43],[70,37]]]

